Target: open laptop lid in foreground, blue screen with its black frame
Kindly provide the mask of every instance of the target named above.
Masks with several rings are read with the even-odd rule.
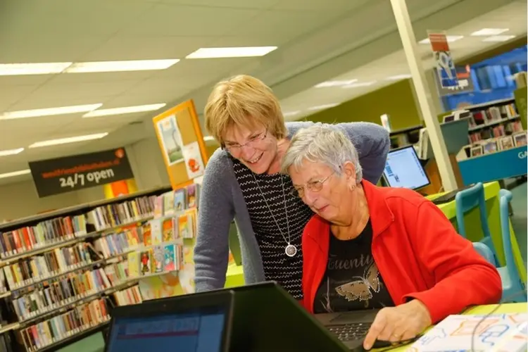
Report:
[[[233,302],[224,290],[116,307],[105,352],[228,352]]]

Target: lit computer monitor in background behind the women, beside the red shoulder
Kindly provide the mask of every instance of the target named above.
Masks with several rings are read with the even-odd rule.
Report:
[[[389,151],[383,178],[389,187],[420,189],[431,184],[414,146],[404,146]]]

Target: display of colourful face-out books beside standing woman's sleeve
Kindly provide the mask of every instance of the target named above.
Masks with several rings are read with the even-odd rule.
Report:
[[[129,277],[139,279],[144,300],[194,292],[198,203],[199,184],[156,197],[153,219],[139,245],[127,254]],[[162,289],[157,288],[160,285]],[[123,298],[127,304],[139,303],[133,296]]]

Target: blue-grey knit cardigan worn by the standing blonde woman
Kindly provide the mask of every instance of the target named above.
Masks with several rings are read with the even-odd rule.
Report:
[[[289,137],[314,122],[287,122]],[[377,183],[389,151],[389,134],[381,126],[367,122],[333,125],[346,132],[358,150],[363,178]],[[218,149],[210,157],[200,194],[198,235],[194,247],[196,291],[220,289],[225,285],[229,256],[229,231],[235,220],[239,232],[246,284],[262,282],[264,270],[260,249],[253,233],[244,196],[234,176],[227,151]]]

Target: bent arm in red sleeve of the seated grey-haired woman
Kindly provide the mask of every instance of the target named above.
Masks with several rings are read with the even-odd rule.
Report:
[[[473,249],[470,241],[455,232],[444,213],[429,201],[409,218],[410,241],[420,265],[436,284],[431,289],[409,294],[427,306],[432,322],[439,322],[467,306],[498,303],[501,277],[494,265]]]

